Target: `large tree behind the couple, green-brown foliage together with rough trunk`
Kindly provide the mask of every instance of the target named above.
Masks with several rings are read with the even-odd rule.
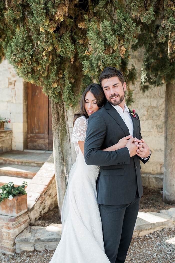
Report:
[[[120,68],[127,83],[137,28],[123,1],[6,0],[0,3],[0,54],[25,81],[43,87],[52,107],[59,211],[72,166],[70,130],[82,89],[98,82],[101,70]],[[132,91],[128,89],[128,100]]]

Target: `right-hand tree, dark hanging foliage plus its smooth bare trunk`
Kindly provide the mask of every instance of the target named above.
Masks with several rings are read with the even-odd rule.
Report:
[[[163,201],[175,204],[175,2],[128,0],[127,3],[134,22],[140,26],[133,48],[145,48],[141,88],[144,91],[149,84],[166,83]]]

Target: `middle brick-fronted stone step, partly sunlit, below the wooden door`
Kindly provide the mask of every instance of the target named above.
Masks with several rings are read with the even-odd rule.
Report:
[[[0,175],[33,178],[39,169],[39,166],[0,164]]]

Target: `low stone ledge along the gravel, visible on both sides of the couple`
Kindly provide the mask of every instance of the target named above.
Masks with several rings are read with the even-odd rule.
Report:
[[[160,213],[138,214],[133,237],[148,235],[163,228],[172,228],[175,224],[175,208],[162,210]],[[46,227],[27,227],[16,239],[16,251],[55,250],[61,239],[61,224]]]

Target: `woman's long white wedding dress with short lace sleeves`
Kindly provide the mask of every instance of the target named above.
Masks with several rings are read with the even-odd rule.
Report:
[[[72,142],[77,153],[61,211],[62,235],[50,263],[110,263],[104,253],[97,203],[98,166],[87,165],[78,146],[86,137],[88,120],[75,121]]]

